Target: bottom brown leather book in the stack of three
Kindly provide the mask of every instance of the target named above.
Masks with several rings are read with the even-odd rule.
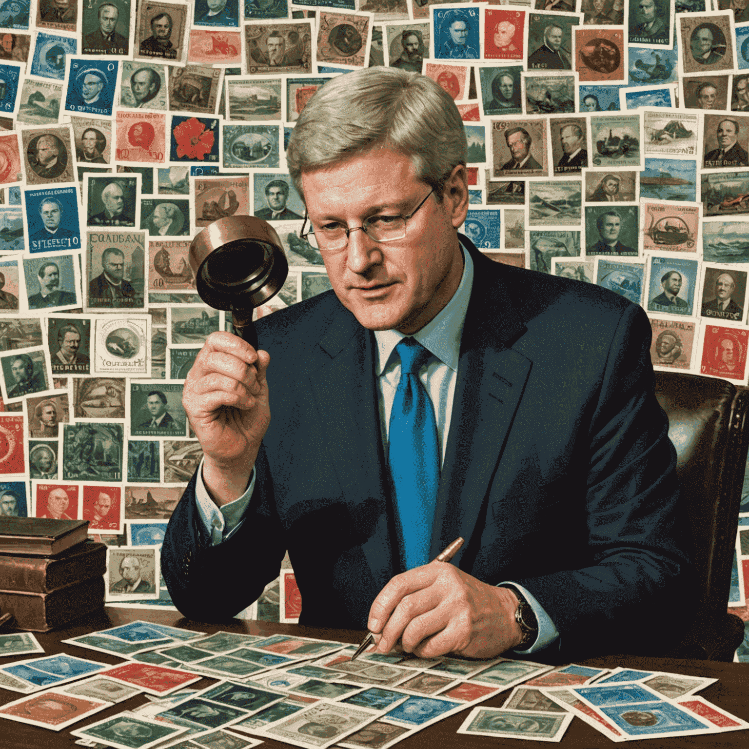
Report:
[[[51,593],[0,590],[2,612],[10,612],[7,627],[46,632],[104,607],[104,578],[94,577]]]

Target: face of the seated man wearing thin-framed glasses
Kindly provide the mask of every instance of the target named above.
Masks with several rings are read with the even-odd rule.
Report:
[[[428,195],[410,158],[387,148],[305,171],[302,184],[316,230],[330,222],[360,226],[373,206],[383,215],[408,214]],[[463,261],[455,230],[466,213],[467,203],[446,189],[441,203],[425,201],[402,240],[378,244],[354,231],[345,249],[324,252],[336,296],[370,330],[419,330],[458,288]]]

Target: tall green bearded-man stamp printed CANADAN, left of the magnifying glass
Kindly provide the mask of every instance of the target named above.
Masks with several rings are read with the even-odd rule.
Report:
[[[85,306],[89,309],[143,309],[144,231],[88,231]]]

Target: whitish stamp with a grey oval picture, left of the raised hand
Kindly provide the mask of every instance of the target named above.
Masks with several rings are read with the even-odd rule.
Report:
[[[150,328],[150,315],[96,315],[94,375],[148,377]]]

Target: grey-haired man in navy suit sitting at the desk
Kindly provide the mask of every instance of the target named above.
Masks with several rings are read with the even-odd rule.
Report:
[[[333,291],[258,321],[260,351],[219,332],[196,357],[183,402],[204,460],[163,542],[173,601],[232,616],[288,549],[302,623],[368,627],[380,652],[401,635],[421,657],[673,646],[693,582],[646,315],[489,261],[457,233],[452,100],[401,70],[342,77],[288,147]],[[426,563],[457,536],[452,564]]]

